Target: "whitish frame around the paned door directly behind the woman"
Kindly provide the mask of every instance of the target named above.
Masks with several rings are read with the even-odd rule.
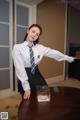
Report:
[[[17,23],[16,22],[16,5],[17,4],[29,8],[29,25],[28,26],[30,26],[33,23],[36,23],[36,10],[37,10],[36,5],[29,5],[27,3],[25,4],[23,2],[19,2],[19,1],[14,0],[14,16],[15,16],[15,18],[14,18],[14,35],[13,35],[14,36],[14,41],[13,41],[13,46],[14,46],[14,44],[17,43],[17,33],[16,33],[16,25],[17,25],[16,24]],[[16,74],[15,74],[15,69],[14,69],[13,78],[14,78],[14,92],[15,92],[15,91],[17,91],[17,77],[16,77]]]

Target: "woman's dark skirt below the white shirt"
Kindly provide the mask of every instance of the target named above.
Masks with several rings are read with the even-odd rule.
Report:
[[[33,75],[31,73],[31,69],[30,68],[25,68],[26,73],[28,75],[28,82],[30,84],[30,88],[31,91],[36,90],[36,88],[39,86],[47,86],[47,83],[44,79],[44,77],[41,75],[38,66],[35,67],[35,74]],[[20,80],[18,80],[18,92],[20,92],[20,94],[23,96],[24,95],[24,90],[22,87],[22,84],[20,82]]]

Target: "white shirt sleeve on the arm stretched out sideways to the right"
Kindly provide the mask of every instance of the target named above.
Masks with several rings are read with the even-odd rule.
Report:
[[[44,56],[53,58],[57,61],[64,61],[64,60],[66,60],[68,62],[73,62],[74,61],[73,57],[65,55],[65,54],[59,52],[58,50],[54,50],[54,49],[51,49],[51,48],[48,48],[48,47],[45,47],[45,46],[43,46],[42,50],[43,50]]]

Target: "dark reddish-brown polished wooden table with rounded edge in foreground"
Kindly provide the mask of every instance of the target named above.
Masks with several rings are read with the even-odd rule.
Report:
[[[22,101],[18,110],[19,120],[80,120],[80,89],[51,88],[50,102],[37,101],[33,92],[30,100]]]

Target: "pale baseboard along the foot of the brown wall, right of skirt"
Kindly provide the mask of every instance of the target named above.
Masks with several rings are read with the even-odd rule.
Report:
[[[48,85],[51,85],[53,83],[57,83],[57,82],[60,82],[60,81],[63,81],[63,80],[64,80],[64,76],[60,75],[60,76],[48,78],[48,79],[46,79],[46,82],[47,82]]]

